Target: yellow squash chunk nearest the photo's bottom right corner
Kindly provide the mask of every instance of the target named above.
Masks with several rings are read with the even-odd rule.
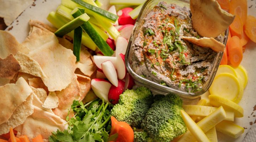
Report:
[[[216,125],[216,130],[225,135],[237,138],[244,133],[244,128],[231,121],[222,121]]]

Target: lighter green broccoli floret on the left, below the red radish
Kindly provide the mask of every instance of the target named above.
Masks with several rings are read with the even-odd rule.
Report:
[[[129,125],[140,128],[146,112],[153,103],[153,94],[146,87],[136,90],[126,90],[119,96],[118,104],[114,105],[111,115],[117,121],[127,122]]]

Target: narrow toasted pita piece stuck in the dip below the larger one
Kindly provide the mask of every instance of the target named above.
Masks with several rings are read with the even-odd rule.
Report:
[[[225,49],[225,45],[223,43],[218,42],[216,39],[214,38],[195,38],[195,37],[182,37],[182,39],[187,40],[188,42],[191,42],[193,44],[196,44],[198,46],[201,47],[208,47],[210,49],[212,49],[215,52],[224,52]]]

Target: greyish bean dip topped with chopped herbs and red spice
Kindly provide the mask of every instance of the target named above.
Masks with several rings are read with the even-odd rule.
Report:
[[[131,47],[133,71],[181,91],[200,91],[217,53],[188,43],[182,35],[201,38],[192,28],[190,9],[160,2],[146,14]],[[221,35],[216,39],[223,42]]]

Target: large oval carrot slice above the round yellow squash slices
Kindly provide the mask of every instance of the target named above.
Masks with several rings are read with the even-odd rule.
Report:
[[[238,67],[242,61],[242,45],[239,37],[233,36],[227,43],[228,57],[232,66]]]

